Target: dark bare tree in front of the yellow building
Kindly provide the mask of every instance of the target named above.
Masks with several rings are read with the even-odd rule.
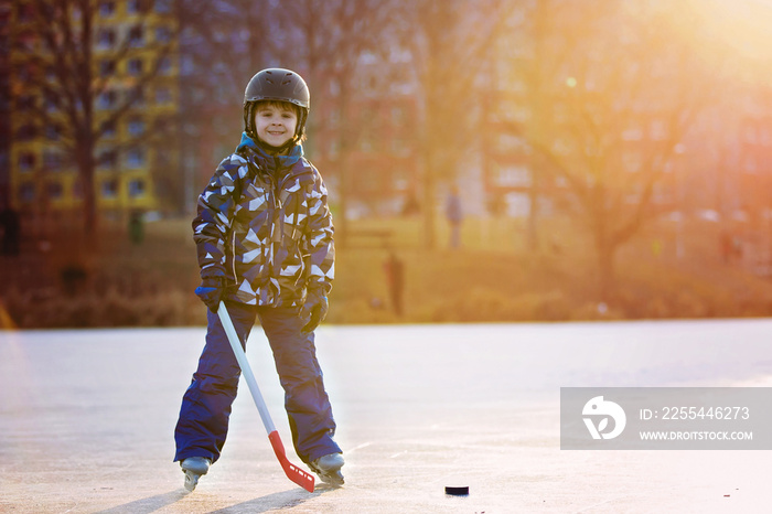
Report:
[[[77,168],[86,234],[97,226],[94,179],[99,142],[143,101],[147,86],[171,64],[175,24],[163,25],[168,32],[158,32],[163,38],[151,36],[144,26],[150,11],[146,3],[132,2],[136,21],[111,29],[99,29],[97,20],[112,15],[115,2],[30,0],[21,7],[28,29],[25,41],[17,49],[14,76],[20,82],[14,87],[15,101],[28,101],[36,133],[55,138],[65,161]],[[163,6],[169,6],[169,12],[152,14],[171,20],[171,4]],[[110,50],[99,54],[100,46]],[[138,58],[140,54],[151,58]],[[133,67],[121,74],[131,60]],[[116,151],[117,147],[101,157],[115,159]]]

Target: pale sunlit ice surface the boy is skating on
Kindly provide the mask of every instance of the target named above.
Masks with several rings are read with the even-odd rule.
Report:
[[[0,512],[766,513],[769,451],[560,450],[560,387],[772,386],[772,320],[322,326],[346,485],[308,493],[246,384],[193,493],[172,463],[203,329],[0,332]],[[247,355],[290,460],[267,342]],[[772,407],[772,406],[771,406]],[[447,496],[468,485],[469,496]]]

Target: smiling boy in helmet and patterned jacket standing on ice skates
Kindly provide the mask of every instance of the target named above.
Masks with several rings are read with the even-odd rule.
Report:
[[[326,188],[300,144],[309,100],[305,82],[293,72],[255,75],[244,95],[242,142],[199,197],[193,237],[202,282],[195,292],[208,307],[208,325],[174,431],[174,461],[190,491],[219,458],[240,375],[216,314],[221,300],[244,342],[260,319],[298,457],[323,481],[343,483],[313,335],[328,311],[334,229]]]

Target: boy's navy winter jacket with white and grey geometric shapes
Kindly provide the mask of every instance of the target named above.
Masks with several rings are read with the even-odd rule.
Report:
[[[201,276],[224,277],[227,298],[297,307],[307,288],[332,289],[328,192],[300,144],[272,157],[246,133],[199,196],[193,238]]]

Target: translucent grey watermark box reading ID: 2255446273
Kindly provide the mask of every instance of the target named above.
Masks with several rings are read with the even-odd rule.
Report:
[[[560,449],[772,450],[770,405],[772,387],[560,387]]]

